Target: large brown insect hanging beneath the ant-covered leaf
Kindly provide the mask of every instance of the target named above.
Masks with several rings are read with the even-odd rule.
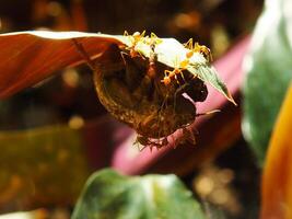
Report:
[[[139,38],[141,35],[144,33],[137,34],[135,42],[142,41]],[[137,131],[137,142],[151,149],[161,148],[168,143],[167,137],[177,129],[194,138],[186,128],[198,114],[194,103],[183,93],[187,93],[194,102],[205,101],[207,87],[188,71],[184,72],[184,81],[179,84],[168,83],[166,87],[161,83],[166,67],[156,61],[157,39],[154,35],[145,37],[151,50],[149,59],[135,55],[135,43],[122,57],[120,48],[113,44],[98,58],[98,65],[91,60],[81,43],[77,39],[73,43],[94,71],[101,103],[114,117]],[[183,73],[180,70],[185,69],[185,64],[179,65],[176,70],[166,71],[167,77]]]

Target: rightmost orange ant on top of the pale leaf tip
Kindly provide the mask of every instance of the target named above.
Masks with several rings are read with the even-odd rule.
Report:
[[[191,58],[194,53],[199,53],[203,55],[203,57],[208,60],[208,62],[213,61],[213,57],[212,57],[210,48],[203,45],[199,45],[199,43],[197,42],[194,44],[192,38],[188,39],[188,42],[185,43],[184,46],[190,50],[186,54],[187,58]]]

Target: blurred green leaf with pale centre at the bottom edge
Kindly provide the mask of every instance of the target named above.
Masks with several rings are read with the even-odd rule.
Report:
[[[175,175],[124,176],[113,170],[93,174],[72,219],[201,219],[199,204]]]

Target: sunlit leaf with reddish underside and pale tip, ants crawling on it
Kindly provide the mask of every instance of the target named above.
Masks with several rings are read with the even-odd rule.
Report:
[[[72,38],[78,38],[92,58],[100,57],[112,44],[132,46],[129,36],[120,35],[49,31],[1,34],[0,99],[37,83],[57,70],[84,62]],[[143,41],[137,50],[148,58],[151,56],[150,46]],[[185,59],[187,49],[176,39],[162,38],[156,53],[160,62],[175,68],[177,59]],[[190,66],[188,70],[233,101],[224,83],[217,77],[214,69],[209,69],[201,54],[195,53]]]

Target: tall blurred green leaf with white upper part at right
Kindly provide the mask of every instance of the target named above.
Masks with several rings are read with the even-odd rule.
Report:
[[[245,60],[243,132],[264,163],[270,134],[292,79],[291,1],[266,1]]]

